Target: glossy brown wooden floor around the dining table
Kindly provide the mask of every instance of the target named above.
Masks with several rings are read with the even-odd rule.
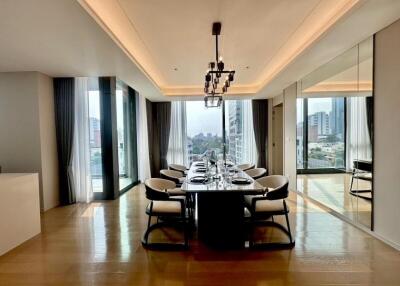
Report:
[[[0,285],[400,285],[400,252],[294,195],[296,246],[279,251],[146,251],[146,203],[139,187],[46,212],[41,235],[0,257]]]

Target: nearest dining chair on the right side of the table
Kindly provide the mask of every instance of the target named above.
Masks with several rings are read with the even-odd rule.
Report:
[[[264,195],[246,195],[245,205],[251,216],[252,233],[250,235],[250,247],[253,248],[279,248],[293,247],[295,242],[292,238],[289,223],[289,207],[285,199],[289,195],[289,180],[285,176],[272,175],[256,180],[265,188]],[[284,215],[287,228],[274,221],[274,216]],[[269,220],[271,219],[271,220]],[[256,226],[273,226],[282,230],[289,238],[289,243],[276,242],[254,242],[254,230]]]

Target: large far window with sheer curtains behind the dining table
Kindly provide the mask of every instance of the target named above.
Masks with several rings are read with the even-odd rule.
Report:
[[[205,108],[203,101],[173,102],[168,162],[189,165],[210,150],[222,158],[222,112],[222,107]],[[225,101],[225,142],[227,160],[256,162],[250,100]]]

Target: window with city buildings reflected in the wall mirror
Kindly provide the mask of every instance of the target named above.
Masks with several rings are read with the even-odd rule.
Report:
[[[345,168],[344,97],[297,99],[297,167]]]

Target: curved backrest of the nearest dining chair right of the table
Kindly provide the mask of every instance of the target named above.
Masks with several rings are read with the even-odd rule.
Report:
[[[289,195],[289,180],[285,176],[272,175],[257,179],[257,182],[270,190],[266,194],[270,200],[285,199]]]

